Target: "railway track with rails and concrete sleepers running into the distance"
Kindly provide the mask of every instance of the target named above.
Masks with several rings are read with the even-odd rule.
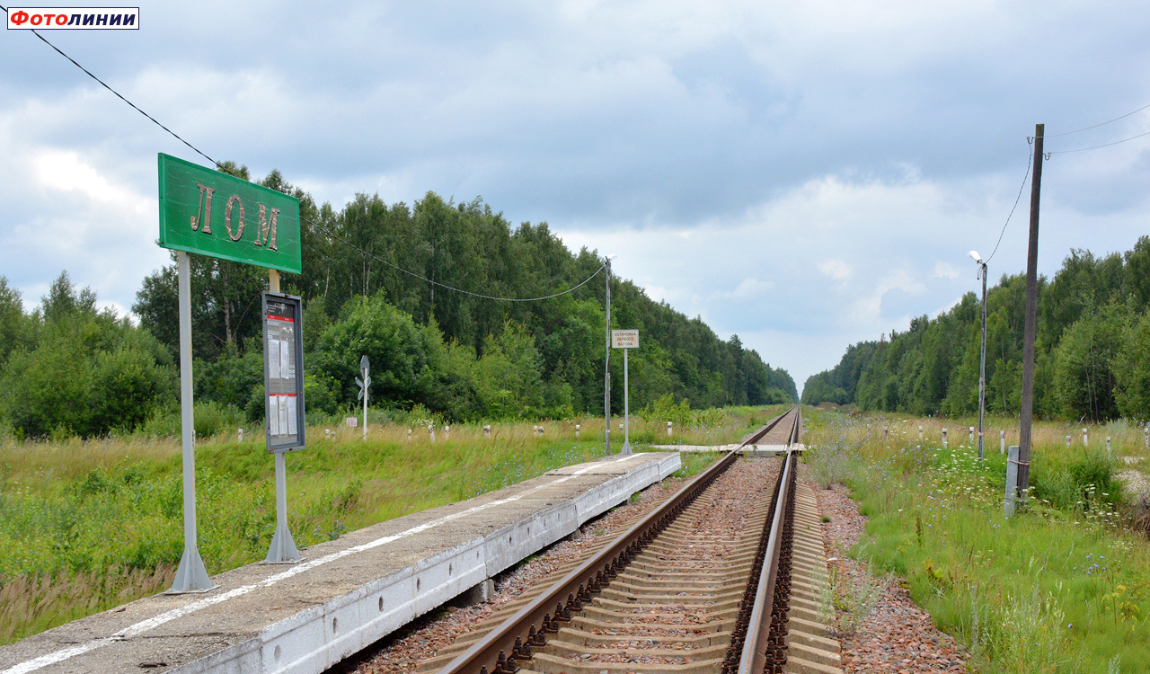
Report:
[[[798,408],[742,446],[799,439]],[[796,457],[730,452],[623,535],[505,605],[417,672],[837,672],[814,495]]]

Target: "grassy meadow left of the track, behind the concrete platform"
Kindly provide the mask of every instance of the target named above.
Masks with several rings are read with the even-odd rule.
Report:
[[[685,444],[737,442],[770,408],[733,408],[676,429]],[[576,434],[575,424],[580,424]],[[613,421],[614,423],[614,421]],[[459,501],[603,455],[603,420],[411,428],[308,428],[286,457],[297,545]],[[411,436],[408,436],[411,430]],[[661,431],[661,436],[657,431]],[[622,444],[613,438],[613,450]],[[666,423],[631,421],[631,442],[666,442]],[[681,475],[715,454],[691,454]],[[199,550],[208,573],[267,553],[275,529],[273,459],[262,437],[235,430],[195,446]],[[132,436],[0,445],[0,644],[162,591],[183,552],[178,439]]]

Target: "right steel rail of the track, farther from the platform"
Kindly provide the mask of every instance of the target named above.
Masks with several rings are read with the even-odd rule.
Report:
[[[787,524],[793,513],[795,491],[795,451],[790,445],[796,443],[802,424],[802,412],[795,416],[788,439],[787,458],[780,475],[775,507],[770,518],[770,535],[764,559],[762,572],[759,575],[754,592],[754,605],[751,608],[743,642],[743,651],[738,660],[738,674],[764,674],[781,672],[785,662],[785,645],[782,636],[785,633],[787,604],[776,605],[776,585],[780,576],[780,559],[787,546]],[[789,595],[789,583],[785,588]],[[782,599],[780,597],[780,599]],[[773,631],[774,630],[774,631]],[[768,669],[769,666],[769,669]]]

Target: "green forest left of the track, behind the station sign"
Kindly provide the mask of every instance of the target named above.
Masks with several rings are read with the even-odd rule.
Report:
[[[246,167],[224,169],[248,178]],[[603,413],[605,275],[596,252],[568,251],[546,223],[512,227],[480,198],[457,204],[428,192],[408,206],[358,194],[336,209],[317,206],[278,171],[260,184],[298,197],[300,215],[320,225],[302,225],[302,274],[282,278],[284,292],[304,299],[312,419],[354,407],[365,354],[371,405],[384,411],[461,422]],[[191,271],[197,432],[259,421],[267,271],[202,255],[192,255]],[[530,298],[597,273],[542,301],[494,301],[419,278]],[[737,336],[720,339],[626,279],[613,277],[611,294],[612,328],[642,335],[630,354],[632,409],[668,396],[696,408],[798,399],[790,375]],[[177,432],[175,262],[144,279],[132,313],[138,323],[98,311],[95,293],[76,288],[67,271],[25,311],[0,276],[0,432]],[[621,360],[612,359],[619,412]]]

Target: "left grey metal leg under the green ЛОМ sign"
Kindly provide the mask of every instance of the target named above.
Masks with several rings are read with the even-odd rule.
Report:
[[[179,412],[184,444],[184,554],[170,595],[206,592],[212,584],[195,542],[195,422],[192,408],[192,271],[184,251],[179,265]]]

